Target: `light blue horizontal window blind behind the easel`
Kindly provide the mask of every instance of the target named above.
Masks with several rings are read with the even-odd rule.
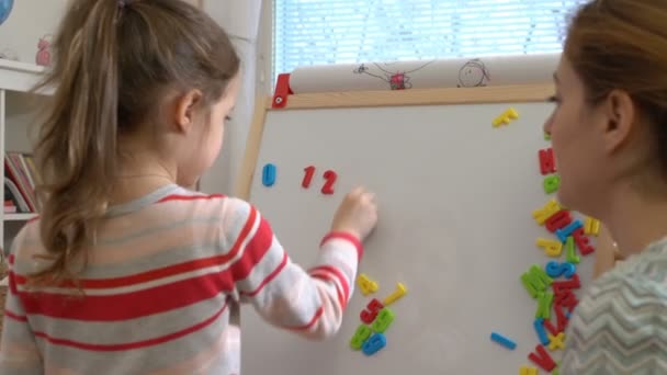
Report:
[[[274,0],[273,75],[298,66],[561,52],[585,0]]]

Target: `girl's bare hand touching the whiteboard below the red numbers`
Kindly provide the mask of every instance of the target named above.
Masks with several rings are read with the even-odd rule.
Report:
[[[375,195],[363,188],[349,192],[338,206],[331,231],[348,231],[363,241],[377,224]]]

